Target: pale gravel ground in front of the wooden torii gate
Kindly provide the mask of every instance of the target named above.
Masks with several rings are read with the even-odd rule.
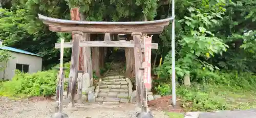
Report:
[[[76,103],[75,107],[64,106],[63,112],[70,118],[135,118],[140,109],[136,104]],[[168,118],[164,112],[152,111],[155,118]],[[0,118],[47,118],[54,113],[52,101],[9,100],[0,97]]]

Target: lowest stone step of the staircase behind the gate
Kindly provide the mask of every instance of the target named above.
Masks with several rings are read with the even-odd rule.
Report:
[[[96,102],[120,102],[120,103],[128,103],[129,99],[124,98],[114,98],[114,97],[98,97],[95,100]]]

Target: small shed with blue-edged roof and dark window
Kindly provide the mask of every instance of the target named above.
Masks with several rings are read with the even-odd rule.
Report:
[[[0,50],[10,51],[12,56],[6,64],[0,62],[0,66],[6,66],[5,70],[0,72],[0,80],[12,79],[15,75],[15,69],[30,74],[42,70],[42,56],[40,55],[9,46],[3,46],[2,40],[0,40]]]

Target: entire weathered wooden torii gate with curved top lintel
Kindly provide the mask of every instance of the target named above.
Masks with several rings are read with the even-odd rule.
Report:
[[[65,42],[64,48],[72,48],[70,75],[72,85],[69,89],[69,97],[71,98],[72,106],[74,105],[74,97],[76,92],[76,81],[78,74],[78,57],[79,47],[83,46],[101,46],[101,47],[126,47],[134,48],[135,57],[135,75],[136,75],[136,89],[137,102],[139,107],[142,107],[142,112],[146,111],[144,105],[144,90],[143,90],[143,59],[142,48],[144,43],[141,43],[142,34],[160,34],[165,26],[169,25],[169,21],[174,17],[154,20],[154,21],[130,21],[130,22],[106,22],[106,21],[74,21],[51,18],[38,14],[46,25],[49,26],[50,31],[53,32],[69,32],[74,35],[73,42]],[[85,38],[84,33],[88,34],[132,34],[133,41],[111,41],[110,38],[105,38],[104,41],[80,41]],[[157,43],[151,43],[152,49],[157,49]],[[55,48],[60,48],[60,43],[55,43]],[[143,102],[144,101],[144,102]]]

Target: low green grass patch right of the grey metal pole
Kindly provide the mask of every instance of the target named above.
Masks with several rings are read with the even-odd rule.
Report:
[[[182,98],[185,111],[215,111],[256,108],[253,90],[230,88],[220,85],[179,86],[177,95]]]

